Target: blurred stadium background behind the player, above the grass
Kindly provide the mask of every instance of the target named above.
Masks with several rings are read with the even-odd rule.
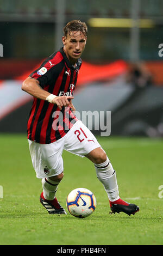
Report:
[[[162,0],[0,0],[0,132],[26,132],[33,98],[22,81],[73,19],[89,29],[77,110],[111,111],[111,135],[162,137]]]

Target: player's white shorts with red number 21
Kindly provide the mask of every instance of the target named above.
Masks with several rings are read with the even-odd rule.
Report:
[[[84,157],[101,147],[92,132],[78,120],[64,137],[50,144],[29,142],[29,150],[37,178],[59,175],[64,170],[62,151]]]

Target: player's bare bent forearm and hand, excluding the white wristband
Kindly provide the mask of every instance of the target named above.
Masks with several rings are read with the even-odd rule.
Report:
[[[22,90],[41,100],[47,100],[47,97],[50,95],[50,93],[42,89],[37,79],[30,76],[23,81]],[[57,96],[52,100],[52,103],[57,104],[59,109],[61,109],[63,106],[68,106],[73,98],[72,96]]]

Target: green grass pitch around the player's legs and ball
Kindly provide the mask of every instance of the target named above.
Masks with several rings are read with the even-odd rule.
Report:
[[[32,167],[26,135],[1,134],[0,141],[0,245],[163,244],[162,139],[98,138],[116,170],[121,198],[140,207],[130,217],[123,212],[109,215],[109,200],[93,164],[64,151],[65,176],[57,198],[66,209],[71,190],[91,190],[97,207],[84,219],[69,213],[49,215],[40,204],[42,184]]]

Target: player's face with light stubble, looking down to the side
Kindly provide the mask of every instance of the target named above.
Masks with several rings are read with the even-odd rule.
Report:
[[[80,31],[71,31],[62,37],[62,42],[67,58],[75,64],[84,51],[86,36]]]

